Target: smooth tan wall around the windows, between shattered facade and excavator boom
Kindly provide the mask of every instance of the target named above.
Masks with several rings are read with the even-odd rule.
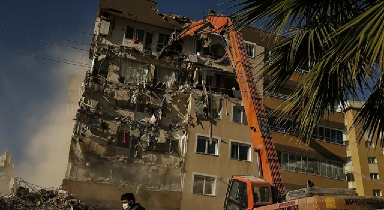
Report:
[[[212,126],[212,136],[223,140],[219,140],[218,142],[218,156],[195,153],[196,135],[209,135],[209,123],[207,121],[202,122],[202,125],[196,124],[195,128],[191,127],[189,129],[188,147],[186,154],[187,172],[185,173],[184,177],[184,187],[182,192],[183,197],[181,203],[181,208],[183,210],[221,209],[223,208],[225,193],[227,191],[228,178],[232,177],[232,174],[258,174],[254,152],[252,152],[252,162],[233,160],[229,157],[231,139],[248,143],[252,143],[252,141],[250,139],[250,133],[248,131],[247,125],[231,122],[231,103],[229,101],[223,101],[223,103],[222,119],[214,120],[214,125]],[[193,101],[192,104],[194,104]],[[226,106],[228,107],[229,115],[226,114]],[[195,117],[194,105],[192,105],[191,108],[191,115]],[[215,196],[198,195],[192,193],[191,188],[193,186],[193,172],[216,175],[221,178],[221,180],[216,180],[217,191]]]

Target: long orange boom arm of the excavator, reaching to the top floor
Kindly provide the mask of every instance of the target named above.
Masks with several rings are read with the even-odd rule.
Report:
[[[284,200],[285,185],[281,175],[280,165],[276,153],[275,144],[271,136],[268,118],[265,113],[262,97],[253,76],[252,66],[248,57],[247,48],[242,33],[232,28],[232,21],[228,16],[208,14],[204,20],[195,21],[184,31],[175,36],[175,40],[185,36],[197,34],[218,33],[227,35],[230,46],[223,42],[240,91],[243,98],[245,113],[247,114],[248,126],[251,133],[252,143],[257,155],[259,176],[270,182],[276,202]]]

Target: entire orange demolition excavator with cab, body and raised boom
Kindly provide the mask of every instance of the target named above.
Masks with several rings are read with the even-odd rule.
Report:
[[[288,192],[286,197],[284,196],[286,190],[275,144],[257,81],[253,77],[254,73],[242,33],[232,28],[232,21],[228,16],[215,15],[215,12],[212,11],[210,10],[204,20],[191,23],[184,31],[175,31],[177,33],[174,34],[174,38],[170,39],[163,50],[172,41],[185,36],[217,33],[223,38],[228,59],[240,86],[260,177],[233,175],[228,183],[224,210],[374,210],[384,208],[382,198],[358,196],[353,189],[311,188],[308,186],[306,189]],[[228,43],[224,35],[227,36]]]

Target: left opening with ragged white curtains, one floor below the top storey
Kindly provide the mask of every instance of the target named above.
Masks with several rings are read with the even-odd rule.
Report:
[[[124,83],[147,83],[151,64],[123,59],[120,67],[120,79]]]

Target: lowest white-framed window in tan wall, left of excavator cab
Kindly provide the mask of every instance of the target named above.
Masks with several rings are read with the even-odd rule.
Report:
[[[194,175],[193,193],[215,195],[216,178]]]

